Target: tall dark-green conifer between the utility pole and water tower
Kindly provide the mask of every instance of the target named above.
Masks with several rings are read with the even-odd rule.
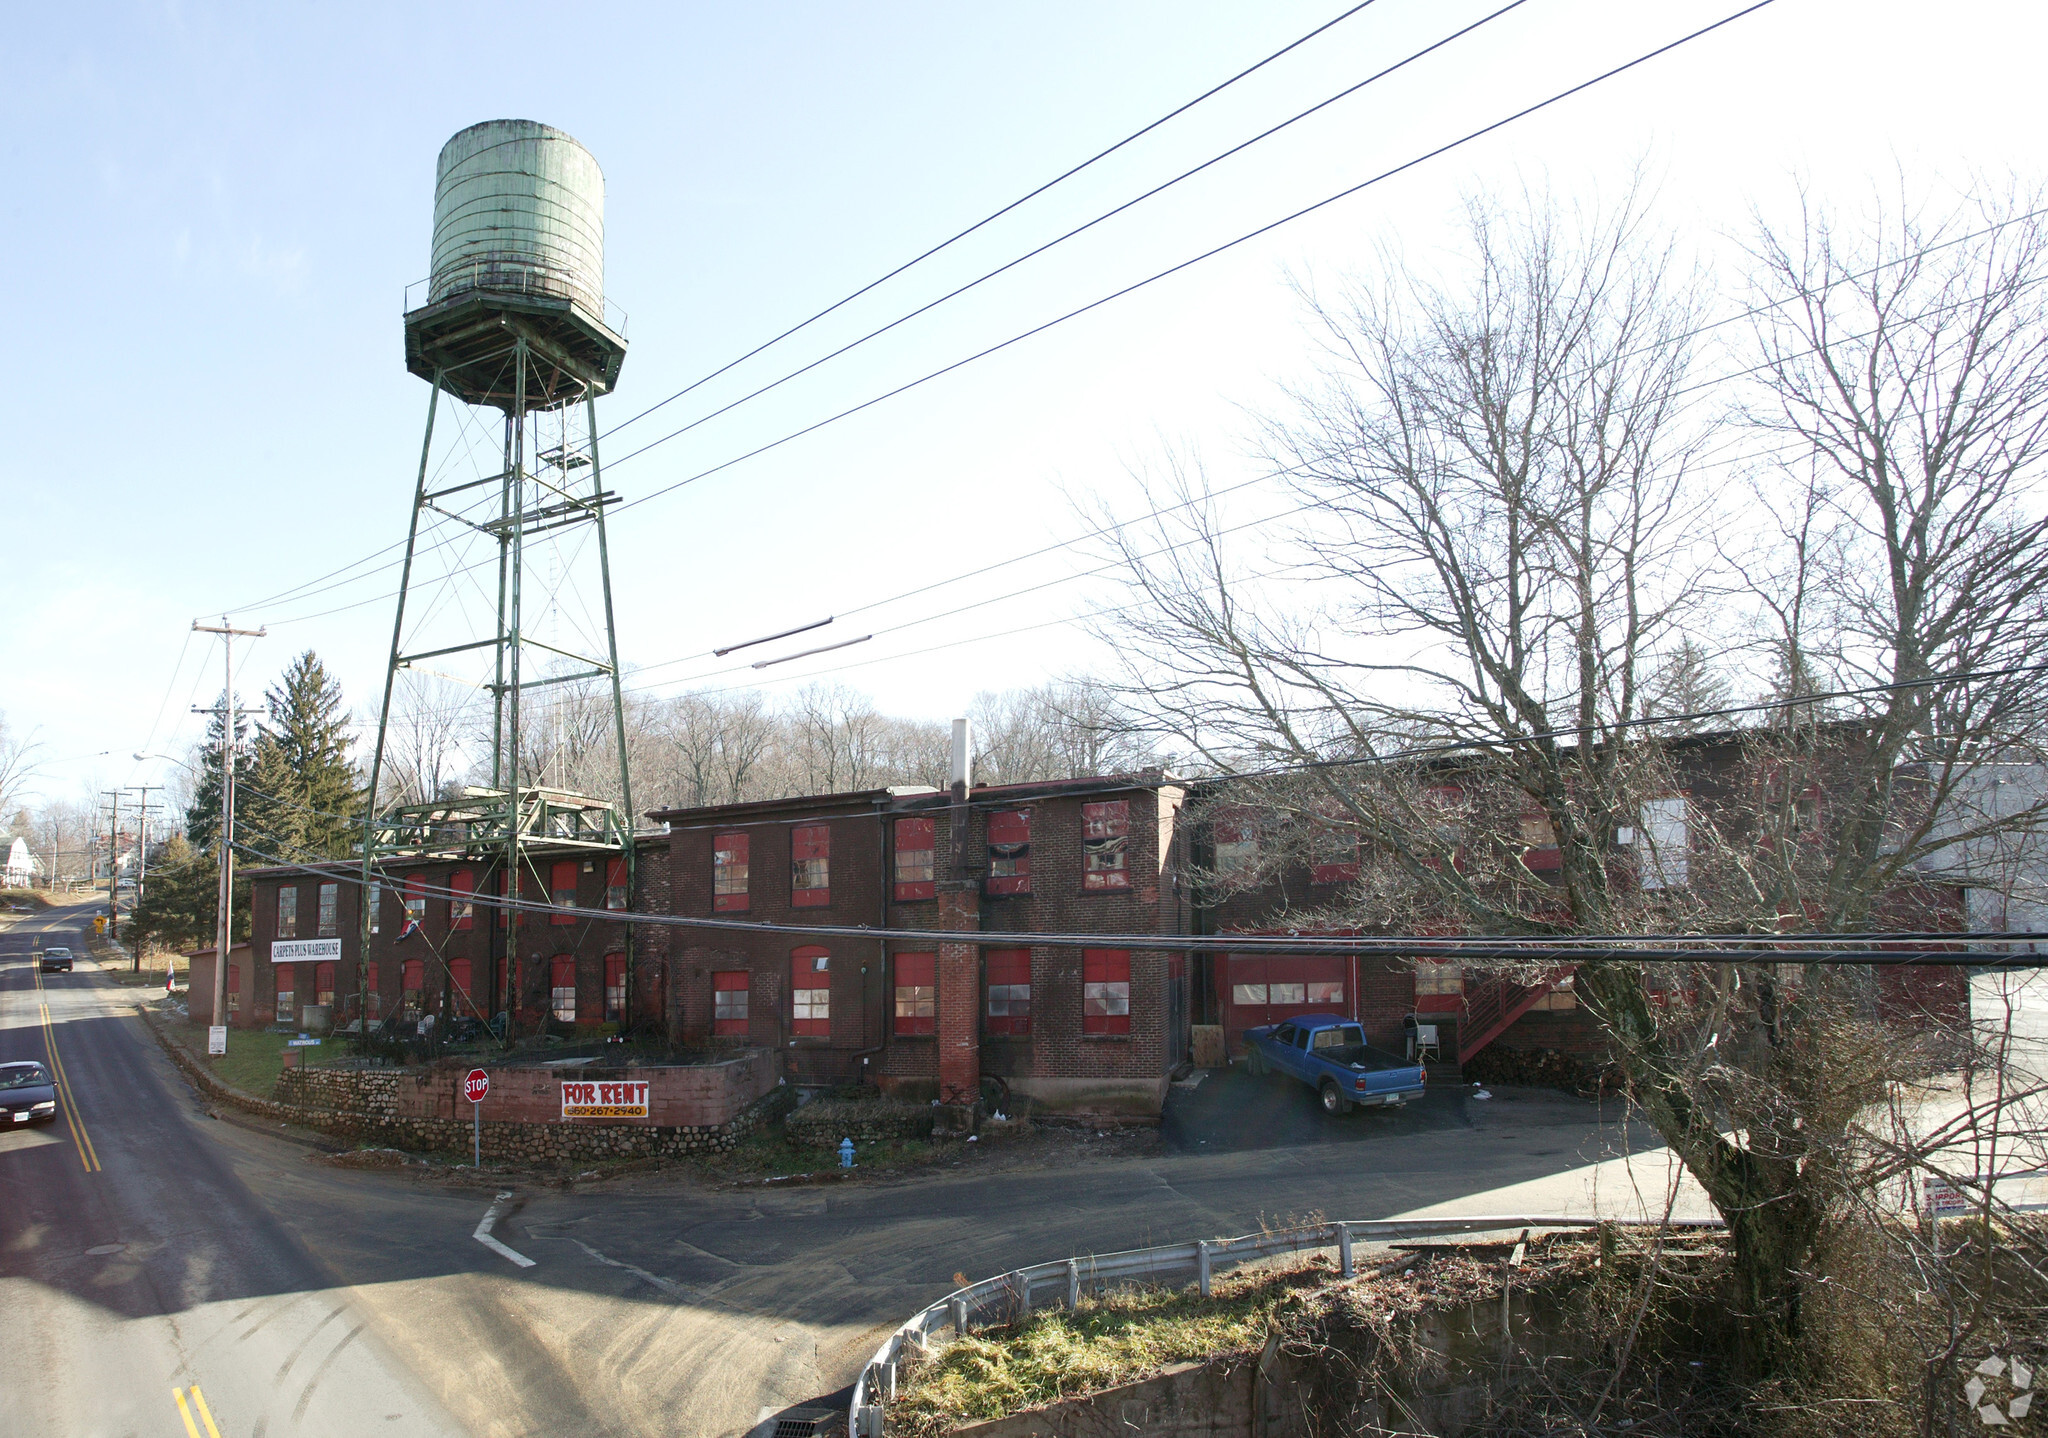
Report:
[[[360,838],[362,787],[348,762],[342,686],[307,649],[264,699],[270,719],[256,746],[252,787],[268,795],[262,813],[270,836],[297,850],[291,858],[348,858]]]

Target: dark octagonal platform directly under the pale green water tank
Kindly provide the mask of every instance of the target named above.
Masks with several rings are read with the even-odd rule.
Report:
[[[518,367],[512,350],[526,340],[526,410],[575,404],[610,393],[627,358],[627,340],[578,301],[559,295],[461,289],[406,311],[406,369],[469,404],[510,412]]]

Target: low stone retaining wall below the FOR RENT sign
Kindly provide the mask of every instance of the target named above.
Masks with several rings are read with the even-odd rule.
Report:
[[[471,1123],[467,1116],[440,1116],[432,1112],[453,1110],[453,1102],[442,1102],[442,1090],[461,1084],[467,1065],[436,1065],[432,1069],[285,1069],[279,1075],[274,1098],[260,1098],[229,1088],[199,1063],[184,1045],[170,1039],[152,1024],[158,1043],[172,1061],[190,1075],[203,1094],[215,1102],[229,1104],[244,1112],[297,1123],[338,1139],[369,1141],[395,1149],[414,1151],[463,1151],[471,1147]],[[768,1055],[745,1055],[733,1063],[750,1063]],[[707,1065],[727,1069],[731,1065]],[[672,1073],[668,1069],[635,1069],[637,1073]],[[772,1071],[772,1069],[770,1069]],[[535,1073],[547,1084],[561,1077],[584,1077],[588,1069],[504,1069],[504,1082],[518,1090]],[[596,1077],[596,1075],[592,1075]],[[606,1071],[604,1077],[616,1077]],[[721,1092],[733,1075],[700,1075],[705,1084],[717,1082]],[[754,1073],[760,1080],[760,1073]],[[498,1096],[500,1077],[492,1080],[492,1094]],[[451,1090],[453,1092],[453,1090]],[[551,1090],[555,1092],[555,1090]],[[684,1157],[692,1153],[721,1153],[745,1139],[756,1129],[778,1120],[797,1102],[797,1090],[768,1077],[766,1092],[752,1102],[733,1104],[723,1114],[717,1110],[702,1114],[707,1123],[590,1123],[532,1118],[485,1118],[483,1153],[494,1159],[516,1164],[592,1164],[600,1159],[631,1157]],[[485,1100],[489,1106],[489,1100]],[[467,1108],[467,1104],[463,1104]],[[649,1104],[659,1114],[657,1104]]]

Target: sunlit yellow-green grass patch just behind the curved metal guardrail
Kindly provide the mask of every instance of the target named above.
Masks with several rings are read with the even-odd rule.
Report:
[[[1137,1383],[1176,1362],[1249,1352],[1321,1282],[1313,1264],[1229,1274],[1214,1297],[1194,1288],[1122,1288],[1075,1311],[1034,1313],[1018,1327],[948,1344],[911,1368],[889,1409],[891,1428],[920,1438],[1038,1403]]]

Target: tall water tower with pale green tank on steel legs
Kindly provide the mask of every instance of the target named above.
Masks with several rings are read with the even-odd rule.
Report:
[[[377,793],[385,764],[397,674],[451,662],[469,662],[487,674],[477,688],[492,694],[492,783],[457,799],[432,795],[387,809],[373,803],[362,844],[365,881],[381,858],[446,856],[485,860],[496,889],[500,875],[526,875],[532,866],[526,850],[545,846],[557,858],[563,850],[623,854],[631,893],[633,787],[604,537],[604,510],[618,496],[604,490],[596,418],[598,395],[618,383],[625,354],[625,318],[604,299],[604,172],[596,158],[573,137],[535,121],[485,121],[457,133],[440,147],[434,172],[432,272],[406,293],[406,369],[426,379],[432,391],[391,625],[371,793]],[[498,412],[481,418],[489,434],[502,434],[502,447],[494,440],[489,451],[496,473],[449,477],[444,467],[430,465],[442,397],[469,408],[455,416],[463,434],[475,434],[481,418],[475,410]],[[543,436],[549,428],[553,445]],[[543,643],[522,623],[528,541],[547,537],[553,545],[565,531],[584,526],[596,531],[602,635],[580,647]],[[479,615],[471,633],[449,633],[446,615],[432,612],[436,604],[420,606],[418,617],[408,615],[408,606],[424,584],[416,574],[422,535],[469,539],[463,528],[496,545],[496,623]],[[446,543],[436,537],[428,549]],[[559,584],[559,572],[555,580]],[[440,625],[438,633],[428,629],[428,621]],[[528,664],[532,651],[543,655],[545,672]],[[573,680],[598,680],[610,688],[618,803],[520,780],[520,696]],[[362,928],[358,953],[367,955],[367,916]],[[500,932],[496,924],[489,928]],[[494,1002],[514,1010],[520,993],[518,928],[514,912],[504,932],[504,963],[487,989]],[[358,987],[362,983],[367,979]]]

